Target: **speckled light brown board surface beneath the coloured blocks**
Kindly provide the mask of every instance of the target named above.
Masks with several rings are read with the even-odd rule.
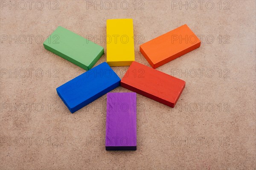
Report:
[[[15,2],[0,10],[0,169],[255,170],[255,0],[195,1],[195,9],[182,1],[187,10],[171,0],[126,1],[128,9],[122,1],[116,9],[112,1],[111,9],[105,1]],[[134,20],[135,60],[148,66],[141,42],[183,24],[201,35],[200,48],[157,68],[186,81],[175,108],[137,94],[137,151],[105,150],[106,95],[68,111],[55,89],[84,70],[43,47],[63,26],[106,50],[113,18]],[[122,77],[128,67],[113,69]]]

